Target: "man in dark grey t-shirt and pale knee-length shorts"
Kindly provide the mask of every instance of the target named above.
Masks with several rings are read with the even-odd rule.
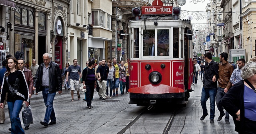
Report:
[[[67,70],[66,81],[68,81],[68,74],[70,73],[70,91],[71,101],[74,101],[74,90],[77,92],[77,99],[80,100],[79,94],[79,80],[82,78],[81,67],[77,65],[77,59],[73,60],[73,65],[70,65]]]

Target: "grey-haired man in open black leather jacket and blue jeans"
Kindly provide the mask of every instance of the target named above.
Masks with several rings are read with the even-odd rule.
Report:
[[[38,67],[36,72],[33,88],[38,88],[39,91],[42,91],[46,113],[44,121],[41,121],[40,123],[47,127],[50,119],[51,122],[49,125],[56,124],[56,117],[52,104],[56,92],[58,91],[59,94],[62,93],[62,77],[59,65],[51,61],[49,53],[44,53],[43,60],[44,63]]]

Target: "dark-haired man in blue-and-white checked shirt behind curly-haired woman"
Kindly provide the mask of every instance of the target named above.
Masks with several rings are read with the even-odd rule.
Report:
[[[238,59],[237,64],[238,64],[238,68],[236,68],[233,71],[233,73],[230,77],[230,82],[232,83],[232,86],[242,80],[242,77],[241,77],[242,70],[241,69],[245,65],[245,60],[244,59]]]

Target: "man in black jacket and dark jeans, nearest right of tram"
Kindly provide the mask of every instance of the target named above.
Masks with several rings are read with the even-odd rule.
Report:
[[[215,114],[215,100],[218,89],[217,80],[219,79],[218,64],[212,60],[212,54],[210,52],[204,54],[205,61],[208,63],[204,67],[204,79],[201,96],[201,106],[203,109],[203,115],[200,120],[208,115],[206,108],[206,101],[210,97],[210,123],[214,123]]]

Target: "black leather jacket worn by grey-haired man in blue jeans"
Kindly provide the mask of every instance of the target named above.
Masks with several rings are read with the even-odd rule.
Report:
[[[57,63],[50,61],[49,67],[49,92],[54,93],[62,91],[62,77],[60,67]],[[42,77],[43,77],[44,63],[39,65],[34,78],[34,87],[42,91]]]

